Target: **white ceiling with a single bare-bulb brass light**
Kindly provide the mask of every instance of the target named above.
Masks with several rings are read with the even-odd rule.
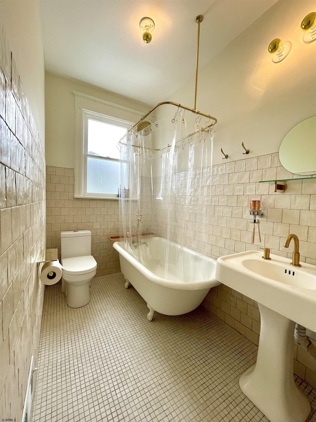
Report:
[[[154,105],[195,77],[198,14],[201,67],[274,3],[40,0],[45,68]],[[150,44],[139,28],[144,16],[155,21]]]

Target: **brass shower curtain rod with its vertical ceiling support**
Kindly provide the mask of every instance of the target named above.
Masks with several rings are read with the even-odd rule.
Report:
[[[200,26],[200,23],[202,22],[202,20],[203,20],[203,16],[202,15],[198,15],[197,17],[196,17],[196,22],[197,22],[197,25],[198,25],[198,29],[197,29],[197,64],[196,64],[196,85],[195,85],[195,99],[194,99],[194,108],[191,108],[191,107],[187,107],[187,106],[185,106],[185,105],[183,105],[183,104],[179,104],[179,103],[176,103],[176,102],[173,102],[173,101],[162,101],[162,102],[159,102],[158,104],[156,104],[155,105],[155,107],[153,107],[151,110],[149,110],[149,112],[147,113],[147,114],[145,114],[137,123],[135,123],[135,125],[126,133],[126,135],[118,142],[118,143],[122,143],[122,144],[124,144],[125,142],[122,142],[122,140],[127,136],[127,135],[129,135],[134,129],[135,129],[135,127],[137,127],[141,122],[143,122],[145,119],[146,119],[146,117],[148,117],[154,110],[156,110],[156,108],[158,108],[160,105],[163,105],[163,104],[171,104],[171,105],[175,105],[176,107],[178,107],[178,108],[182,108],[183,110],[187,110],[187,111],[191,111],[192,113],[194,113],[194,114],[197,114],[197,115],[199,115],[199,116],[202,116],[202,117],[206,117],[206,118],[208,118],[209,120],[213,120],[213,122],[212,123],[210,123],[209,125],[206,125],[206,126],[204,126],[201,130],[202,131],[205,131],[205,130],[207,130],[208,128],[210,128],[211,126],[214,126],[216,123],[217,123],[217,119],[216,119],[216,117],[213,117],[213,116],[211,116],[211,115],[209,115],[209,114],[205,114],[205,113],[202,113],[201,111],[198,111],[197,110],[197,76],[198,76],[198,57],[199,57],[199,26]],[[193,134],[190,134],[190,135],[188,135],[188,136],[186,136],[185,138],[183,138],[183,139],[186,139],[186,138],[189,138],[190,136],[193,136],[193,135],[195,135],[196,133],[197,133],[198,131],[196,131],[195,133],[193,133]],[[179,141],[177,141],[177,142],[180,142],[180,141],[182,141],[183,139],[181,139],[181,140],[179,140]],[[176,142],[176,143],[177,143]],[[134,145],[133,145],[134,146]],[[136,145],[135,145],[136,146]],[[155,149],[156,151],[161,151],[162,149],[165,149],[165,148],[167,148],[167,147],[169,147],[170,145],[168,144],[167,146],[165,146],[165,147],[163,147],[163,148],[160,148],[160,149]],[[147,148],[147,149],[151,149],[151,148]]]

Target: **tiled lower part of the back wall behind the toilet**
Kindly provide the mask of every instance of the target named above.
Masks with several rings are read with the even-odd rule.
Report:
[[[74,169],[46,167],[47,248],[58,248],[60,232],[90,230],[96,277],[119,271],[118,253],[108,236],[119,232],[118,200],[74,198]]]

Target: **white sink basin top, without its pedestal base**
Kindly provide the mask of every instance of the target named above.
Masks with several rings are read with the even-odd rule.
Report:
[[[316,331],[316,266],[262,252],[248,251],[219,258],[218,281],[250,297],[290,320]]]

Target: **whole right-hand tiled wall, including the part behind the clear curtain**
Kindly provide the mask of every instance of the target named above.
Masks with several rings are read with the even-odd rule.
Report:
[[[272,175],[288,178],[284,192],[275,192],[274,182],[260,183],[271,180]],[[168,181],[164,181],[163,199],[156,205],[156,215],[152,219],[148,216],[148,220],[152,220],[149,231],[164,236],[166,216],[170,211],[175,223],[171,239],[182,239],[183,234],[185,246],[215,259],[269,247],[272,253],[287,256],[290,260],[293,245],[287,249],[283,244],[288,234],[295,233],[300,239],[301,261],[316,265],[316,180],[292,180],[302,176],[283,169],[278,153],[214,165],[212,171],[210,168],[204,170],[201,186],[198,183],[199,171],[193,171],[193,176],[193,188],[190,197],[186,198],[188,172],[177,174],[177,196],[172,203],[167,200]],[[161,188],[158,178],[154,187],[157,191]],[[147,197],[150,198],[149,188]],[[260,200],[264,213],[259,219],[261,242],[256,227],[254,244],[250,200]],[[146,209],[146,202],[142,206]],[[146,218],[143,220],[146,224]],[[256,302],[225,285],[219,285],[210,290],[202,305],[258,344],[260,314]],[[297,375],[309,379],[308,382],[316,387],[315,367],[310,364],[315,362],[313,347],[310,346],[308,352],[312,356],[310,360],[298,354],[297,346],[294,351]]]

